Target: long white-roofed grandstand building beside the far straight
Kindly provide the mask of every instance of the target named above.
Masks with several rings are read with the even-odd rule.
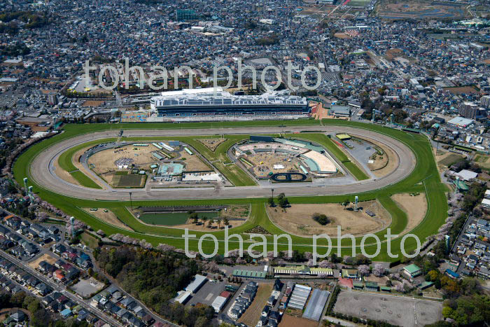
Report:
[[[158,116],[207,115],[307,115],[307,99],[281,92],[263,95],[231,95],[217,88],[162,92],[152,97],[151,111]]]

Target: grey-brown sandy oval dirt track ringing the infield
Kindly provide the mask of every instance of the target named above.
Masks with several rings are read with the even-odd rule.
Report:
[[[300,127],[227,127],[206,129],[176,129],[176,130],[125,130],[125,137],[172,137],[195,136],[209,134],[260,134],[283,133],[301,131],[323,131],[328,133],[349,133],[363,135],[364,137],[379,141],[389,146],[397,153],[400,164],[387,176],[379,179],[367,179],[365,181],[350,181],[344,184],[314,185],[312,183],[284,183],[274,184],[274,189],[288,196],[318,196],[340,195],[349,193],[363,193],[377,190],[396,183],[407,177],[415,166],[415,156],[402,142],[392,139],[384,134],[347,126],[300,126]],[[78,197],[87,200],[130,200],[129,191],[124,189],[92,189],[76,186],[60,179],[54,173],[54,162],[58,156],[73,146],[83,144],[94,139],[117,137],[119,130],[95,132],[83,134],[78,137],[61,141],[34,158],[30,167],[31,177],[39,185],[52,190],[55,193]],[[209,199],[209,198],[244,198],[244,197],[268,197],[272,186],[244,186],[229,188],[150,188],[132,189],[132,200],[174,200],[174,199]]]

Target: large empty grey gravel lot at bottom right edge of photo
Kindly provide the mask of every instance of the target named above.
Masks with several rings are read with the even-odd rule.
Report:
[[[361,319],[412,327],[435,323],[442,319],[442,302],[388,294],[342,291],[339,293],[334,311]]]

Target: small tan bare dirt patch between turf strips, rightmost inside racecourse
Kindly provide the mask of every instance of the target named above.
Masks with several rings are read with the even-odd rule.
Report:
[[[427,211],[427,200],[425,193],[420,193],[419,195],[415,195],[413,197],[408,193],[398,193],[392,195],[391,198],[396,202],[396,204],[398,204],[400,209],[405,211],[408,216],[407,227],[405,230],[403,230],[402,234],[414,229],[416,225],[419,225],[419,223],[423,221]]]

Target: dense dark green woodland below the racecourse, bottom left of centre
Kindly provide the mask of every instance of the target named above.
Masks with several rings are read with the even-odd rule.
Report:
[[[199,272],[195,260],[181,253],[162,253],[131,246],[97,249],[94,255],[100,267],[125,291],[160,316],[186,326],[211,325],[213,308],[184,307],[171,301],[176,292],[186,287]]]

